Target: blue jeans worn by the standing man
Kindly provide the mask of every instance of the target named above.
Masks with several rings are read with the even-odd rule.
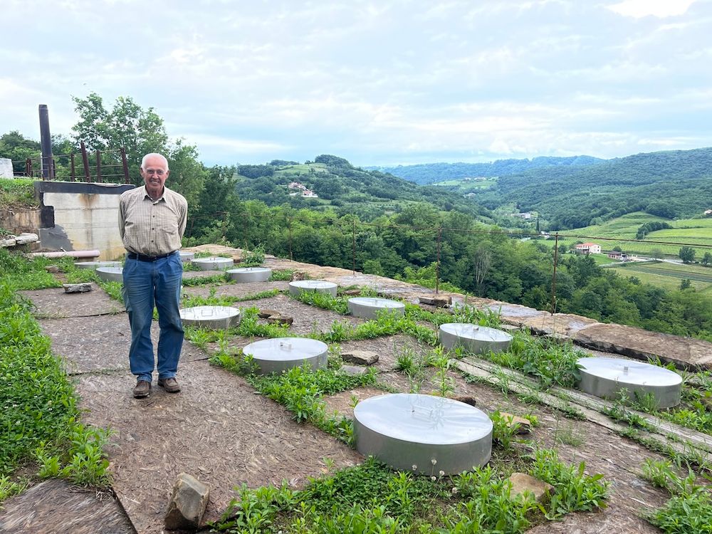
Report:
[[[158,377],[174,377],[183,346],[183,326],[178,311],[183,278],[180,254],[173,253],[156,261],[126,258],[122,274],[124,305],[131,325],[131,372],[137,380],[152,381],[155,362],[151,323],[155,305],[160,327]]]

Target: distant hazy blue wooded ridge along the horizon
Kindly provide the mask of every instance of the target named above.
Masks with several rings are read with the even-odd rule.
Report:
[[[461,178],[509,176],[542,167],[578,167],[604,161],[604,159],[591,156],[535,157],[533,159],[498,159],[496,162],[489,163],[425,163],[398,165],[397,167],[367,167],[367,169],[387,172],[416,184],[433,184]]]

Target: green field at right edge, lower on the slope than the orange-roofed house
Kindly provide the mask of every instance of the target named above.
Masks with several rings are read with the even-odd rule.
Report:
[[[620,276],[635,276],[639,281],[666,289],[679,289],[688,279],[698,292],[712,294],[712,268],[656,261],[653,263],[621,263],[612,267]]]

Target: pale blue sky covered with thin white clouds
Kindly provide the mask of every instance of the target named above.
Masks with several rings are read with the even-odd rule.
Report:
[[[0,134],[130,96],[206,164],[712,146],[712,0],[3,0]]]

